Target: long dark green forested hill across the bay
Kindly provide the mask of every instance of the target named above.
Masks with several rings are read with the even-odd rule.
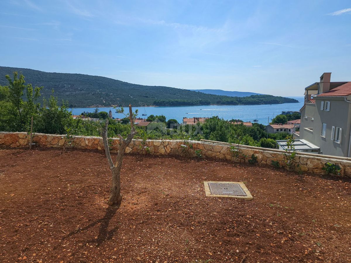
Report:
[[[0,67],[0,85],[7,85],[5,75],[22,72],[26,83],[44,86],[42,97],[48,98],[51,90],[58,100],[67,100],[70,107],[127,106],[187,106],[208,104],[279,104],[297,100],[272,95],[230,97],[205,94],[186,89],[131,84],[108,77],[71,73],[49,73],[27,68]]]

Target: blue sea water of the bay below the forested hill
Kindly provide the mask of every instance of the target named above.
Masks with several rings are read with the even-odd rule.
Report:
[[[267,125],[268,118],[281,114],[282,111],[299,111],[304,104],[304,97],[292,97],[299,103],[283,103],[272,105],[222,105],[222,106],[185,106],[185,107],[135,107],[139,110],[139,117],[146,111],[147,115],[165,115],[167,120],[176,119],[178,122],[183,121],[183,117],[212,117],[218,116],[225,120],[241,119],[243,121],[253,121],[258,118],[258,122]],[[79,115],[82,112],[93,112],[95,108],[73,108],[72,114]],[[124,115],[115,113],[113,108],[98,108],[99,111],[109,112],[112,110],[112,116],[122,118]]]

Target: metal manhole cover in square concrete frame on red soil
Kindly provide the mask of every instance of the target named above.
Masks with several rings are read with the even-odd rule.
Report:
[[[250,191],[242,182],[204,182],[206,196],[235,197],[251,200]]]

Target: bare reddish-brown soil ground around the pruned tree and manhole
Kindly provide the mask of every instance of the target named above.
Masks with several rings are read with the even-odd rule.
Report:
[[[349,181],[127,155],[116,210],[102,153],[0,160],[2,262],[351,262]],[[254,199],[205,197],[203,181],[244,181]]]

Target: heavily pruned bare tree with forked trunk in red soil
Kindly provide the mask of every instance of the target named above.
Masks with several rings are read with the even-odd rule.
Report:
[[[124,109],[121,107],[121,109],[117,110],[117,113],[124,114]],[[119,148],[118,148],[118,154],[117,154],[117,161],[115,163],[112,161],[110,149],[108,146],[108,137],[107,137],[108,119],[106,120],[105,127],[102,130],[102,139],[104,141],[105,153],[106,153],[108,165],[110,166],[110,169],[112,171],[112,187],[111,187],[110,198],[107,201],[108,205],[119,206],[122,201],[121,181],[120,181],[122,162],[123,162],[125,149],[131,143],[136,133],[135,126],[134,126],[134,118],[137,116],[137,114],[138,114],[138,110],[136,110],[135,113],[133,113],[132,106],[131,104],[129,104],[129,113],[126,115],[126,117],[129,117],[131,131],[128,134],[126,139],[124,139],[120,134],[118,134]]]

